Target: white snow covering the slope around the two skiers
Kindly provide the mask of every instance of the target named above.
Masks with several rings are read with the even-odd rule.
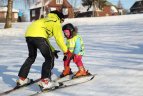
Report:
[[[90,82],[59,89],[39,96],[143,96],[143,14],[67,19],[79,28],[85,44],[85,68],[97,74]],[[3,29],[0,23],[0,93],[15,86],[18,71],[27,57],[24,32],[30,22],[14,23]],[[54,41],[52,45],[59,49]],[[53,79],[63,70],[63,53],[55,60]],[[40,53],[29,78],[39,78],[44,61]],[[71,63],[73,71],[77,71]],[[36,85],[8,96],[28,96]]]

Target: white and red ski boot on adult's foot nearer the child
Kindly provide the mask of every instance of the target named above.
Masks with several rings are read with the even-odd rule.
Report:
[[[59,83],[52,82],[49,78],[44,78],[38,82],[38,85],[40,86],[41,90],[46,90],[59,86]]]

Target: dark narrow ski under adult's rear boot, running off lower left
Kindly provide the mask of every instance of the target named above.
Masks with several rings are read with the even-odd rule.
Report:
[[[9,94],[9,93],[11,93],[11,92],[13,92],[13,91],[16,91],[16,90],[19,90],[19,89],[21,89],[21,88],[27,87],[27,86],[29,86],[29,85],[32,85],[32,84],[38,82],[38,81],[40,81],[40,78],[39,78],[39,79],[36,79],[36,80],[32,80],[32,79],[31,79],[31,82],[30,82],[30,83],[24,84],[24,85],[22,85],[22,86],[15,86],[14,88],[12,88],[12,89],[10,89],[10,90],[7,90],[7,91],[5,91],[5,92],[0,93],[0,96],[2,96],[2,95],[7,95],[7,94]]]

